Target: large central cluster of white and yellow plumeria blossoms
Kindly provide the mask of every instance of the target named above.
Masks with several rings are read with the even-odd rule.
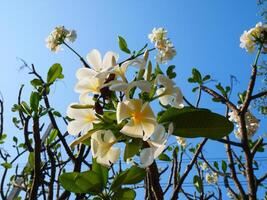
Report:
[[[75,91],[80,102],[68,108],[68,132],[78,136],[72,145],[90,139],[92,156],[100,164],[109,166],[120,158],[122,145],[118,143],[141,141],[135,157],[143,168],[166,148],[171,128],[166,130],[157,122],[151,101],[164,108],[183,108],[183,95],[168,76],[153,73],[148,52],[143,50],[141,56],[118,63],[117,53],[108,51],[102,58],[93,49],[86,57],[90,68],[77,70]],[[128,74],[131,66],[136,73]]]

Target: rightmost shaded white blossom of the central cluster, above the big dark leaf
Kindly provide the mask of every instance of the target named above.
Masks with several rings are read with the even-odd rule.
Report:
[[[183,108],[183,94],[180,88],[175,87],[175,83],[162,74],[159,74],[156,80],[162,86],[156,91],[160,103],[164,106],[172,105],[176,108]]]

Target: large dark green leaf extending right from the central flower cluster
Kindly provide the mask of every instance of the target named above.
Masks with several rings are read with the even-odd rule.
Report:
[[[220,139],[232,132],[234,125],[222,115],[207,109],[185,107],[169,108],[159,118],[159,123],[173,123],[173,135]]]

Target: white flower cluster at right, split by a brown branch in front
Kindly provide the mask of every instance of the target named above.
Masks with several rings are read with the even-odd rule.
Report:
[[[230,112],[229,120],[236,123],[236,130],[234,131],[234,133],[238,139],[241,139],[242,134],[241,134],[241,128],[239,126],[238,114],[233,111]],[[251,138],[258,130],[260,121],[250,111],[247,111],[245,114],[245,122],[246,122],[248,137]]]

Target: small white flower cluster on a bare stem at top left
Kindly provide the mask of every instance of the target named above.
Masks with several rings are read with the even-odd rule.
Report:
[[[67,30],[64,26],[57,26],[46,38],[46,46],[53,52],[60,50],[60,45],[67,39],[74,42],[77,38],[75,30]]]

